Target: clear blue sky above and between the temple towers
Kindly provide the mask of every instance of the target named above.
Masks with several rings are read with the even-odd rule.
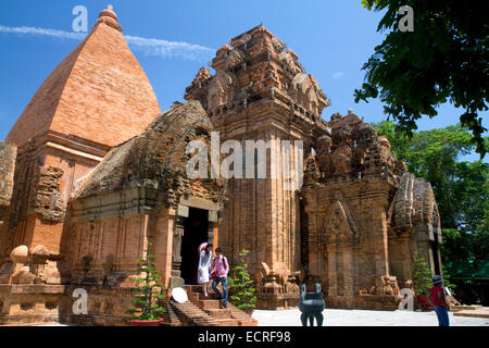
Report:
[[[125,35],[180,42],[177,47],[181,49],[173,51],[174,54],[161,49],[170,44],[161,46],[158,41],[160,46],[155,49],[129,42],[162,110],[175,100],[183,100],[185,87],[199,67],[208,64],[215,49],[263,23],[298,53],[308,73],[315,76],[331,98],[333,107],[323,112],[324,119],[329,120],[335,112],[346,114],[348,109],[367,122],[386,117],[379,101],[356,104],[353,100],[353,90],[364,78],[361,67],[384,39],[376,32],[381,14],[366,11],[360,0],[1,0],[0,139],[7,137],[49,73],[80,42],[79,38],[52,34],[11,33],[12,28],[70,33],[75,18],[73,8],[85,5],[90,30],[99,12],[109,3],[114,7]],[[201,47],[199,54],[190,54],[190,45]],[[459,115],[460,111],[450,104],[442,105],[440,116],[423,119],[418,128],[454,124]]]

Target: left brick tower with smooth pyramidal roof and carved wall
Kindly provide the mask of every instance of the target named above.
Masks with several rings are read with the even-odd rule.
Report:
[[[142,132],[160,113],[117,15],[103,10],[7,137],[17,157],[1,257],[20,245],[29,250],[42,246],[59,256],[66,243],[61,236],[72,192],[112,147]]]

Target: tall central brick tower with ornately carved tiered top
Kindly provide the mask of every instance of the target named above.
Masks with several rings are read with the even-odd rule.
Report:
[[[215,75],[202,67],[187,88],[186,99],[202,103],[221,141],[238,140],[244,148],[247,140],[279,145],[302,140],[308,154],[313,139],[327,128],[321,119],[328,107],[327,97],[314,77],[304,72],[297,54],[262,25],[229,45],[233,48],[224,45],[212,60]],[[297,190],[286,188],[288,175],[283,166],[287,160],[294,163],[294,156],[296,151],[281,153],[278,169],[274,169],[277,178],[271,175],[268,156],[266,178],[228,182],[220,244],[235,262],[241,250],[250,250],[262,308],[297,306],[298,288],[289,281],[302,270],[300,201]]]

